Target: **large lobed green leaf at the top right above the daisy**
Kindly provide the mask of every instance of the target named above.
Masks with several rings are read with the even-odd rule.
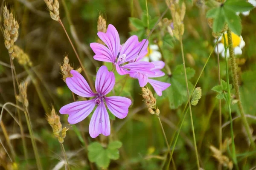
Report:
[[[252,8],[253,6],[245,0],[227,0],[220,6],[210,9],[206,16],[214,19],[212,27],[214,32],[220,32],[227,23],[231,31],[241,35],[241,19],[236,12],[249,11]]]

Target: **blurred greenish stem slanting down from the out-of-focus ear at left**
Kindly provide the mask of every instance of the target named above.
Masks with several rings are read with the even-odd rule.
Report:
[[[44,98],[44,95],[42,94],[41,88],[38,85],[37,79],[34,77],[33,73],[29,70],[27,65],[23,65],[23,66],[24,66],[26,72],[29,74],[29,77],[31,78],[33,85],[35,86],[35,90],[38,94],[41,104],[43,105],[44,111],[47,113],[49,111],[47,102]]]

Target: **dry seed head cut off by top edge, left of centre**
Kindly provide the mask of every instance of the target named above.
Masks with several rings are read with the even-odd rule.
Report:
[[[60,13],[59,13],[59,3],[58,0],[44,0],[47,5],[47,8],[50,11],[50,16],[53,20],[59,21],[60,20]]]

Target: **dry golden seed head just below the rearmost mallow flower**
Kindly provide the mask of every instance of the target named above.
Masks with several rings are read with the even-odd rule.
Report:
[[[151,114],[160,114],[160,110],[157,108],[157,100],[148,88],[142,88],[142,96],[145,99],[148,111]]]

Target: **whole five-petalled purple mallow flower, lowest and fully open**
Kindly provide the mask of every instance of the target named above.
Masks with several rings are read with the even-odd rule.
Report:
[[[68,114],[69,117],[67,121],[70,124],[76,124],[84,120],[96,106],[97,108],[90,120],[90,136],[96,138],[99,134],[103,134],[104,136],[110,135],[110,120],[105,104],[109,111],[119,119],[123,119],[127,116],[128,108],[131,105],[131,100],[126,97],[106,97],[115,85],[113,72],[108,71],[106,66],[99,68],[95,81],[97,93],[93,93],[87,81],[77,71],[72,70],[70,73],[73,77],[66,79],[68,88],[79,96],[93,97],[93,99],[65,105],[60,109],[60,113]]]

